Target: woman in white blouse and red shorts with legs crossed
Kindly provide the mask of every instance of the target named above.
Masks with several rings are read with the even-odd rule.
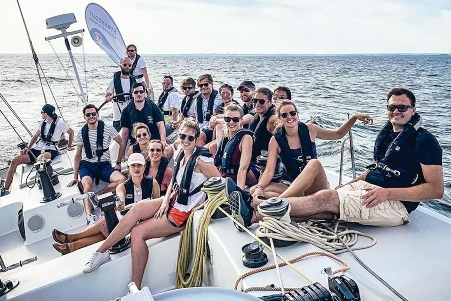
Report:
[[[208,178],[221,176],[211,154],[197,146],[199,125],[187,118],[180,125],[179,147],[174,176],[166,195],[141,201],[119,222],[106,241],[94,252],[83,269],[90,273],[110,258],[107,250],[131,232],[132,281],[141,287],[149,249],[146,240],[180,232],[190,213],[206,199],[200,188]],[[138,223],[139,221],[143,221]]]

